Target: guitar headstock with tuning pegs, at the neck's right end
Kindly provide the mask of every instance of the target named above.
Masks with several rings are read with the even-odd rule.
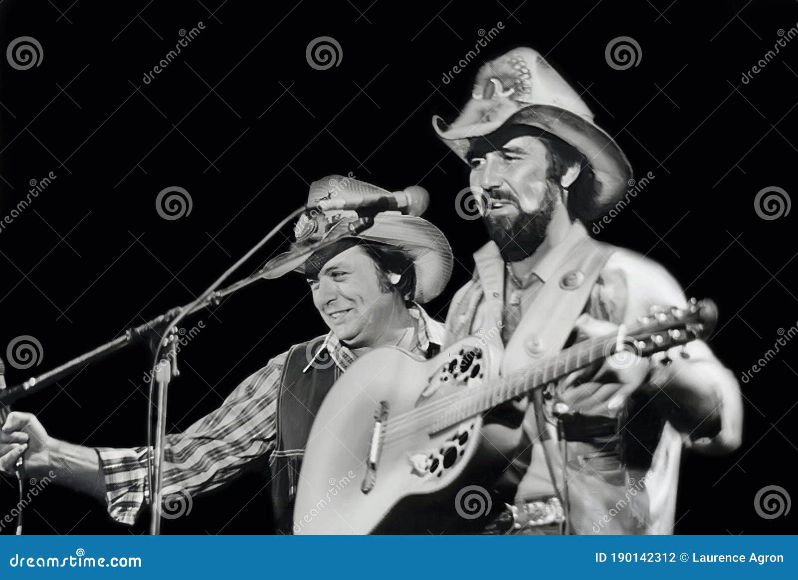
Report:
[[[650,315],[623,332],[623,342],[634,345],[641,356],[679,347],[712,334],[717,323],[717,306],[712,300],[690,299],[686,308],[654,307]],[[631,346],[630,345],[630,346]]]

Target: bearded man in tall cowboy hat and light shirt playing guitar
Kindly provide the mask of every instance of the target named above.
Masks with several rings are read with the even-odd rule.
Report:
[[[537,51],[484,65],[460,116],[440,121],[438,135],[470,166],[492,238],[452,300],[447,344],[496,336],[504,373],[563,343],[620,335],[619,325],[654,305],[686,306],[665,268],[588,236],[583,221],[622,198],[632,170]],[[523,418],[523,429],[490,491],[488,533],[672,533],[681,447],[740,445],[737,381],[701,341],[626,364],[609,359],[531,399],[494,413],[510,425]]]

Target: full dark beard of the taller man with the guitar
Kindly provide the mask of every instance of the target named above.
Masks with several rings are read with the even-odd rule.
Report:
[[[516,208],[520,212],[517,216],[497,217],[488,213],[483,217],[488,234],[499,246],[504,261],[523,260],[538,249],[546,237],[548,225],[557,207],[555,192],[556,188],[550,186],[543,200],[543,206],[531,214],[521,211],[516,203]]]

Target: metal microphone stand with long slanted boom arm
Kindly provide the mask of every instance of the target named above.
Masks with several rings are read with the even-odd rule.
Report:
[[[211,307],[211,305],[215,306],[218,305],[222,298],[225,296],[229,296],[234,292],[238,292],[241,288],[245,288],[250,284],[253,284],[259,280],[263,280],[263,278],[267,277],[267,275],[274,269],[282,266],[286,261],[292,259],[292,256],[286,256],[282,260],[279,258],[272,261],[267,267],[262,268],[259,272],[256,272],[255,275],[249,276],[244,278],[243,280],[239,280],[234,284],[230,284],[226,288],[221,290],[217,290],[216,288],[227,278],[230,276],[235,269],[239,268],[243,262],[247,261],[252,254],[254,254],[258,249],[260,249],[267,241],[271,239],[279,229],[282,229],[284,225],[294,217],[302,214],[306,210],[310,210],[314,208],[310,208],[307,206],[300,206],[297,210],[294,210],[291,214],[289,214],[285,219],[283,219],[279,225],[275,226],[275,229],[272,229],[270,233],[267,234],[261,241],[258,242],[251,250],[249,250],[243,257],[239,259],[231,268],[228,268],[226,272],[223,273],[222,276],[219,277],[218,280],[211,284],[209,288],[205,292],[203,292],[197,300],[192,300],[192,302],[188,304],[184,304],[183,306],[172,308],[164,314],[156,316],[151,320],[148,320],[144,324],[140,324],[136,327],[129,327],[122,335],[113,339],[105,344],[101,344],[99,347],[92,349],[91,351],[87,351],[82,355],[71,359],[60,366],[57,366],[53,370],[49,370],[45,373],[39,374],[38,376],[31,377],[27,379],[25,382],[18,384],[16,386],[11,386],[6,389],[0,389],[0,409],[6,410],[8,412],[9,407],[14,403],[19,401],[22,398],[25,398],[31,394],[38,393],[41,390],[44,390],[46,387],[53,385],[57,380],[68,376],[69,374],[73,374],[77,372],[83,366],[89,365],[92,362],[100,361],[101,359],[105,359],[108,355],[112,354],[113,352],[120,351],[124,348],[131,346],[132,344],[137,344],[143,342],[144,340],[148,340],[154,337],[159,339],[157,346],[155,347],[155,358],[153,361],[152,366],[152,377],[155,379],[150,382],[151,386],[151,408],[150,412],[152,413],[152,388],[154,384],[157,383],[158,385],[158,402],[157,402],[157,417],[156,417],[156,442],[155,442],[155,449],[154,453],[154,461],[151,465],[151,468],[148,469],[148,483],[149,489],[151,490],[151,513],[152,519],[150,523],[150,532],[153,535],[157,535],[160,533],[160,494],[162,492],[161,488],[161,465],[163,464],[163,457],[164,457],[164,447],[163,441],[165,437],[165,429],[166,429],[166,403],[167,403],[167,394],[168,394],[168,386],[169,381],[172,377],[178,376],[179,370],[177,369],[176,364],[176,343],[177,343],[177,325],[182,321],[186,316],[195,314],[196,312],[203,311],[205,308]],[[358,212],[359,213],[359,212]],[[378,213],[377,211],[364,211],[362,212],[362,216],[353,224],[349,225],[349,232],[351,235],[357,235],[361,233],[363,230],[368,229],[373,225],[374,215]],[[332,239],[326,239],[322,241],[318,241],[312,245],[306,245],[303,248],[303,252],[310,255],[318,251],[319,249],[325,248],[326,246],[334,244],[335,241],[338,241],[338,237],[334,237]],[[161,338],[161,335],[158,332],[159,328],[166,328],[164,331],[164,338]],[[164,355],[161,355],[161,351],[167,349]],[[152,420],[148,421],[148,440],[152,437]],[[148,441],[149,443],[150,441]],[[152,448],[152,445],[149,445]],[[148,454],[148,464],[150,463],[150,455]],[[19,472],[22,470],[22,464],[18,464]]]

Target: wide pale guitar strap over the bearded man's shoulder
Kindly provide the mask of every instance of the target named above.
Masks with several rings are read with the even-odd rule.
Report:
[[[546,283],[529,297],[530,302],[505,347],[503,374],[534,365],[543,357],[555,355],[562,350],[613,251],[612,246],[601,244],[587,235],[569,250],[570,253]],[[566,509],[567,521],[568,502],[567,493],[564,492],[566,482],[562,475],[563,457],[557,445],[556,426],[549,424],[543,413],[542,389],[535,390],[532,394],[532,406],[527,411],[524,423],[525,426],[535,425],[536,433],[531,433],[530,438],[541,444],[551,483]],[[555,466],[559,469],[555,469]]]

